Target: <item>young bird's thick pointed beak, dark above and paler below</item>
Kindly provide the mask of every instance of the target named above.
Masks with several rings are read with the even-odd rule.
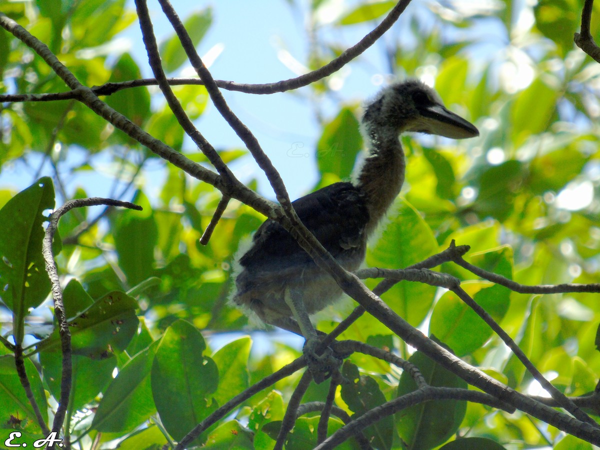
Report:
[[[471,122],[449,111],[443,105],[430,104],[419,108],[421,118],[411,131],[421,131],[452,139],[479,136],[479,130]]]

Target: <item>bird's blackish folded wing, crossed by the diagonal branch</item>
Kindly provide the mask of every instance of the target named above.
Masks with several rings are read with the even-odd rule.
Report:
[[[334,257],[360,247],[368,221],[365,197],[351,183],[340,182],[292,203],[298,217]],[[312,260],[278,223],[266,220],[239,262],[247,268],[277,270]]]

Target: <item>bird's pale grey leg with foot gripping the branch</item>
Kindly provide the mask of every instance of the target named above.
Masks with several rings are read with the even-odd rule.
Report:
[[[317,349],[321,343],[313,323],[308,317],[304,301],[302,300],[302,290],[287,288],[284,295],[287,305],[292,310],[297,324],[304,335],[305,343],[302,351],[307,357],[308,369],[313,374],[314,381],[318,384],[326,379],[328,374],[335,368],[340,367],[340,360],[332,355],[331,349],[326,349],[321,355],[317,353]]]

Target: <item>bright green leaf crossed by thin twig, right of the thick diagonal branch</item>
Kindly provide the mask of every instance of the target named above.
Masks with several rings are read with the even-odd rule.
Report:
[[[487,281],[467,282],[461,286],[496,322],[502,320],[510,302],[510,291],[506,287]],[[490,326],[451,291],[444,293],[436,303],[429,329],[430,334],[457,356],[479,349],[493,334]]]

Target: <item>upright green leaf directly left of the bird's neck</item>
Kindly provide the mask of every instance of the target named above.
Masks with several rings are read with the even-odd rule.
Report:
[[[340,179],[350,176],[356,155],[362,149],[359,128],[356,116],[347,107],[325,125],[317,143],[317,166],[321,175],[334,173]]]

